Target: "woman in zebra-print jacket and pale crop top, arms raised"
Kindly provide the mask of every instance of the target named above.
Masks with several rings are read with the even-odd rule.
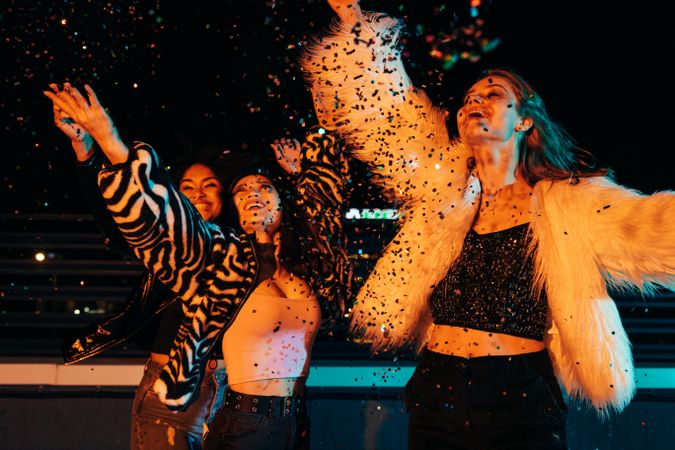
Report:
[[[347,167],[338,141],[317,129],[302,150],[299,144],[278,148],[282,166],[298,172],[295,203],[306,224],[302,238],[290,243],[304,251],[302,261],[292,261],[281,224],[297,214],[282,210],[264,174],[233,180],[227,193],[239,230],[221,229],[202,220],[149,145],[123,143],[89,86],[87,98],[66,88],[45,95],[99,144],[110,161],[99,174],[108,210],[139,260],[183,301],[185,319],[154,387],[159,398],[174,410],[192,403],[204,363],[224,336],[230,385],[205,448],[300,448],[307,443],[299,422],[321,320],[318,300],[340,304],[349,295],[340,222]],[[277,256],[274,277],[262,283],[255,241]]]

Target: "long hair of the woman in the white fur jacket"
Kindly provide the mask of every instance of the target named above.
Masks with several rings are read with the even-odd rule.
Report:
[[[512,70],[495,68],[483,71],[478,78],[505,78],[516,94],[517,112],[532,119],[532,127],[521,140],[518,169],[530,186],[540,180],[578,180],[579,177],[605,176],[595,156],[580,148],[574,139],[551,119],[544,101],[532,85]]]

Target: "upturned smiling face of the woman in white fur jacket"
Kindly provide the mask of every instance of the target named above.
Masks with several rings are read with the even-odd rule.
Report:
[[[509,80],[500,76],[485,77],[471,86],[464,96],[464,105],[457,111],[459,135],[469,145],[506,142],[517,131],[531,126],[531,120],[520,117],[517,108]]]

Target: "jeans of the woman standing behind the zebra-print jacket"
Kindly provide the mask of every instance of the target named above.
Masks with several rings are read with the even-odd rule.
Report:
[[[225,371],[207,372],[199,389],[198,399],[187,410],[173,412],[163,405],[152,390],[162,367],[148,360],[143,379],[136,389],[131,411],[132,450],[200,450],[204,424],[211,412],[218,409]]]

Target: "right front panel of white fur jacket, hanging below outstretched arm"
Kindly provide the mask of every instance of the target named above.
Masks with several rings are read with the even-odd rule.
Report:
[[[635,394],[630,340],[607,292],[607,255],[598,252],[622,226],[595,216],[610,191],[629,194],[600,178],[576,185],[541,181],[531,224],[536,284],[546,290],[557,329],[546,339],[556,373],[571,397],[588,401],[603,417],[623,410]]]

